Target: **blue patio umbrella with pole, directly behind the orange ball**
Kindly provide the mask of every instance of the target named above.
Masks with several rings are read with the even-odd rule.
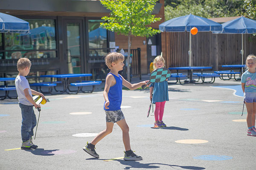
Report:
[[[192,14],[173,18],[159,25],[162,32],[190,32],[193,27],[198,28],[200,32],[222,30],[221,24]],[[191,66],[191,54],[191,34],[189,34],[189,66]]]

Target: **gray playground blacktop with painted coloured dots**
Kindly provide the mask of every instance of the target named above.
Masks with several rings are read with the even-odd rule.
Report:
[[[41,105],[36,150],[19,149],[17,99],[0,101],[0,170],[255,170],[256,137],[246,133],[239,81],[218,78],[213,84],[169,85],[165,128],[151,128],[153,113],[146,117],[148,88],[123,90],[122,111],[130,127],[131,148],[143,157],[141,161],[122,159],[118,125],[96,144],[99,159],[82,150],[105,129],[103,88],[104,83],[92,94],[46,95],[49,101]]]

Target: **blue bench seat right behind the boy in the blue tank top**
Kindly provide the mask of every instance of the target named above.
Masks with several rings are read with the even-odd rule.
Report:
[[[68,94],[78,94],[79,91],[83,92],[83,93],[92,93],[95,89],[95,85],[100,85],[102,83],[102,81],[76,81],[73,83],[70,83],[70,86],[75,86],[78,87],[77,91],[71,91],[70,88],[68,87]],[[83,86],[93,86],[93,89],[91,91],[83,91],[82,88]],[[75,92],[75,93],[74,93]]]

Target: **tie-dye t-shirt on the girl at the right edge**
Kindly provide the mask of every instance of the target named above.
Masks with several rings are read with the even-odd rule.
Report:
[[[256,73],[245,71],[242,74],[241,82],[245,83],[244,92],[256,92]]]

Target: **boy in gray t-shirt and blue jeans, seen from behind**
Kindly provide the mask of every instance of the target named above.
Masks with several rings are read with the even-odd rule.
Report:
[[[30,67],[31,62],[28,58],[20,58],[17,62],[17,70],[19,71],[19,74],[15,79],[15,87],[22,114],[21,149],[36,149],[38,147],[32,142],[32,136],[34,135],[33,129],[36,126],[36,117],[33,106],[35,106],[35,108],[41,108],[41,106],[34,102],[32,94],[42,96],[42,98],[45,99],[44,94],[34,91],[29,87],[29,82],[25,76],[29,74]]]

